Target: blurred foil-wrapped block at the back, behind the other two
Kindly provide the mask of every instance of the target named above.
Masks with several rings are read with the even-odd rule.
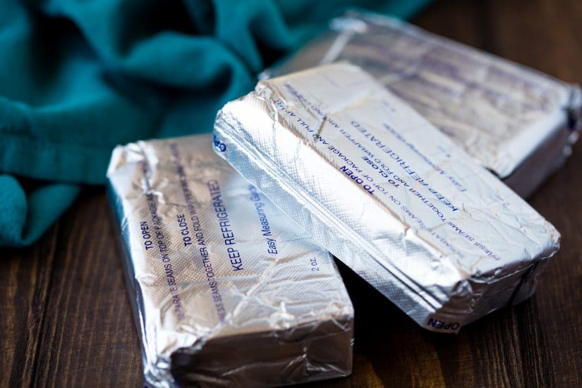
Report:
[[[524,197],[566,162],[578,138],[577,85],[375,13],[333,19],[262,78],[340,60],[374,75]]]

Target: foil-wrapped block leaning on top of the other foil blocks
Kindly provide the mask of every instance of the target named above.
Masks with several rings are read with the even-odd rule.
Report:
[[[229,102],[214,148],[419,325],[532,295],[559,233],[368,73],[334,63]]]

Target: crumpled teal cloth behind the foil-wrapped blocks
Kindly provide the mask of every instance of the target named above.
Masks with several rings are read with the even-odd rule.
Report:
[[[211,131],[340,8],[407,18],[427,2],[2,1],[0,246],[30,245],[104,183],[115,145]]]

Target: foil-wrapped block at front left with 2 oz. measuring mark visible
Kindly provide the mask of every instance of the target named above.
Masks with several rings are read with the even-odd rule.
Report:
[[[212,135],[117,147],[107,172],[155,387],[349,375],[353,307],[332,257],[212,151]]]

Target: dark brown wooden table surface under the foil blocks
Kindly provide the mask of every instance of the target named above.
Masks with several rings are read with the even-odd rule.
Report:
[[[439,1],[414,23],[582,83],[582,1]],[[538,293],[463,328],[431,334],[343,269],[356,306],[351,377],[325,386],[582,384],[582,145],[531,198],[562,232]],[[0,386],[139,386],[140,348],[102,188],[34,246],[2,250]]]

